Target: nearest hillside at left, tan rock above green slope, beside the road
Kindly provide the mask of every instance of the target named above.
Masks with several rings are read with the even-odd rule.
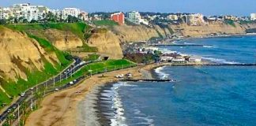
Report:
[[[70,64],[51,43],[0,26],[0,105]]]

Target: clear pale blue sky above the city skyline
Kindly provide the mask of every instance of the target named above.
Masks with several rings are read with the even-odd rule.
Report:
[[[203,13],[204,15],[250,16],[256,13],[256,0],[0,0],[0,6],[29,2],[51,9],[77,7],[92,12]]]

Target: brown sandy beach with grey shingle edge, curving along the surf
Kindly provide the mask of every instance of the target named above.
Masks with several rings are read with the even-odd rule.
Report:
[[[83,80],[77,87],[60,91],[43,98],[41,109],[31,113],[26,120],[26,126],[70,126],[70,125],[100,125],[93,114],[97,88],[105,83],[119,81],[115,78],[118,74],[131,72],[134,79],[152,78],[150,70],[157,65],[137,66],[131,69],[123,69],[115,72],[92,76]],[[87,108],[83,108],[81,102],[88,102]],[[92,105],[92,106],[90,106]],[[84,111],[81,111],[83,109]],[[91,110],[91,111],[89,111]],[[85,113],[85,114],[84,114]],[[87,115],[87,116],[86,116]],[[84,116],[84,117],[83,117]],[[85,122],[86,119],[90,121]],[[95,119],[95,120],[92,120]]]

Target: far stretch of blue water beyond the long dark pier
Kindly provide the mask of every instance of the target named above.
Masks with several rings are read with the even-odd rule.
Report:
[[[199,55],[217,63],[256,63],[256,36],[189,39],[176,43],[205,46],[160,46],[160,49]]]

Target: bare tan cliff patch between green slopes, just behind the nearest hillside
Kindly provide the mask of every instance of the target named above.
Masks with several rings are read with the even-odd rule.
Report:
[[[83,41],[70,31],[61,31],[57,29],[46,29],[43,31],[32,30],[33,35],[40,36],[40,38],[47,39],[58,50],[72,50],[77,46],[83,46]]]

